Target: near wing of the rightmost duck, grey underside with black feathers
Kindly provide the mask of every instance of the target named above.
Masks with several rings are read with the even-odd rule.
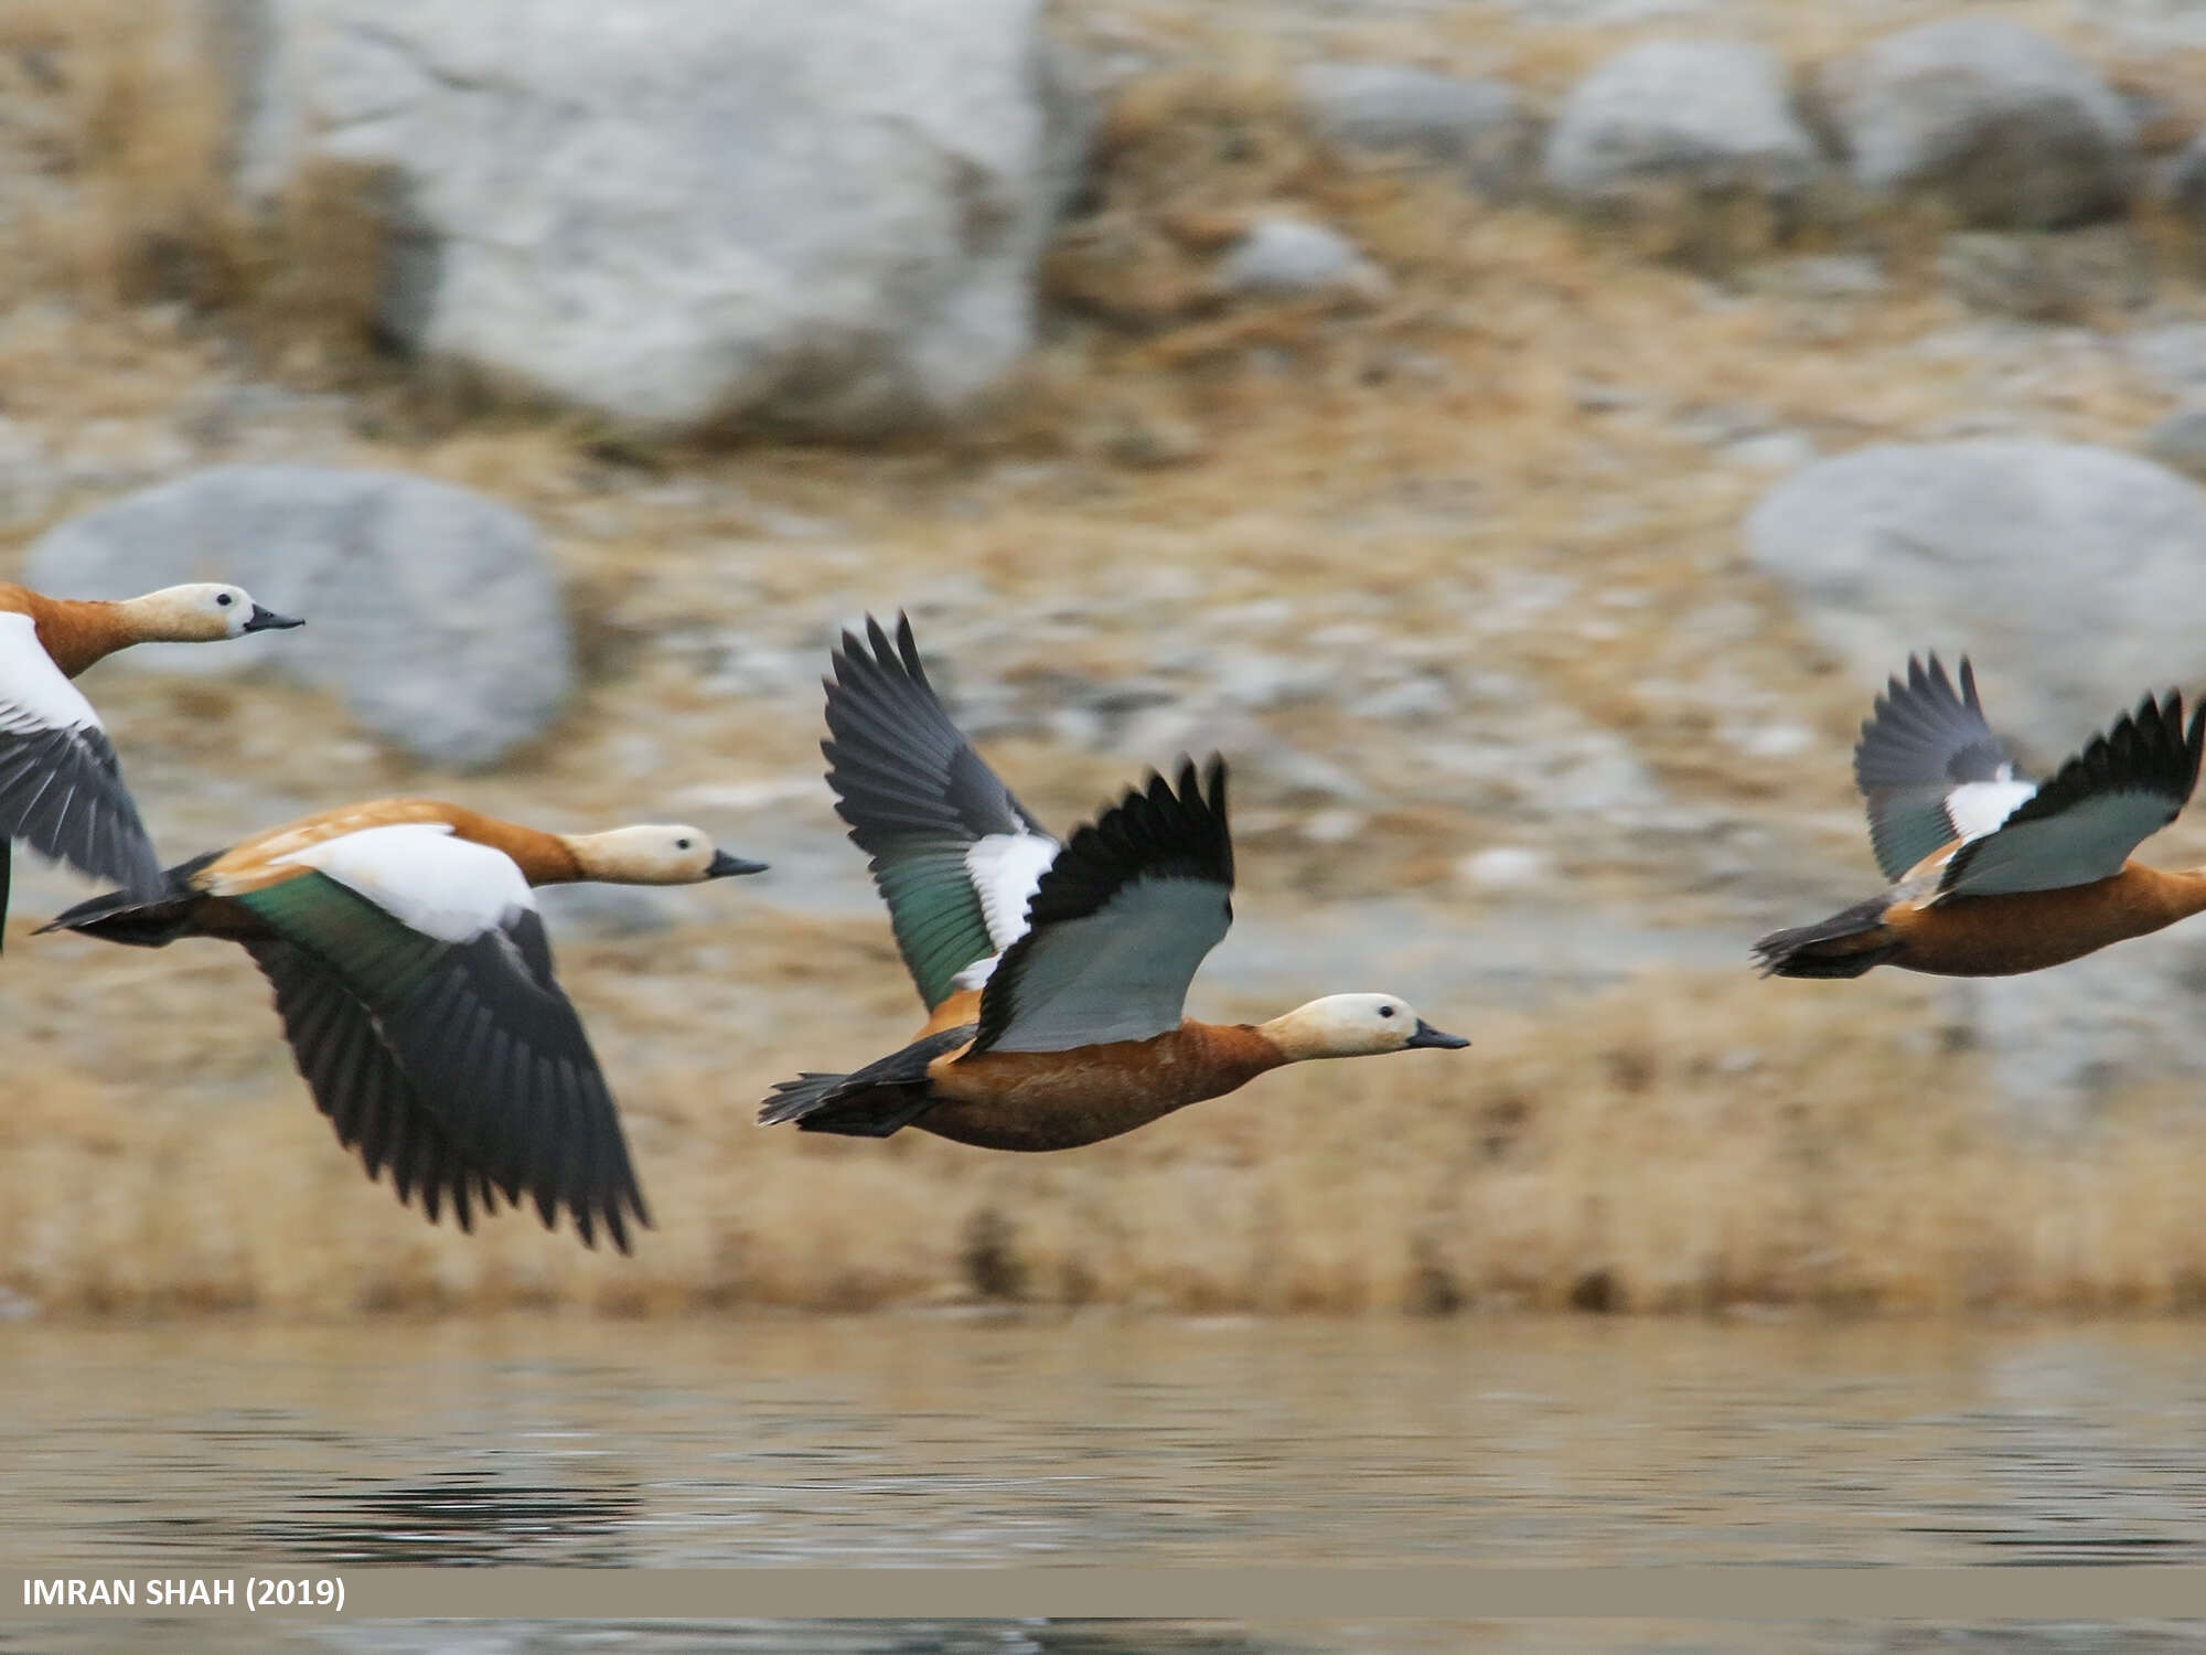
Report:
[[[2122,872],[2182,812],[2199,779],[2206,706],[2184,728],[2184,697],[2146,695],[2060,766],[2005,823],[1961,845],[1937,896],[2001,896],[2089,885]]]

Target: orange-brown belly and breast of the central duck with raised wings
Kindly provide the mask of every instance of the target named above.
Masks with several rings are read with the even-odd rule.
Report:
[[[913,1125],[979,1150],[1077,1150],[1222,1097],[1286,1061],[1249,1024],[1193,1019],[1152,1039],[1070,1053],[968,1050],[927,1066],[935,1103]]]

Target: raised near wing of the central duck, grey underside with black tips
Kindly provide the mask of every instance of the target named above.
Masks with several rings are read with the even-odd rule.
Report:
[[[1187,984],[1233,925],[1227,768],[1180,761],[1081,828],[1041,876],[1032,929],[979,997],[973,1050],[1057,1053],[1180,1026]]]

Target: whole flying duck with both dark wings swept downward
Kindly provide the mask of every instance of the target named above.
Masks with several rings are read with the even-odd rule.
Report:
[[[527,1192],[596,1247],[649,1225],[620,1117],[552,973],[532,887],[757,874],[695,828],[549,834],[435,799],[375,799],[168,869],[165,894],[79,903],[46,929],[243,942],[315,1106],[371,1178],[437,1220]]]

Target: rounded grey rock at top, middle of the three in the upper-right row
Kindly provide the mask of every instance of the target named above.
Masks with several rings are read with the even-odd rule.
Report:
[[[1778,60],[1732,42],[1657,40],[1617,53],[1571,88],[1546,135],[1549,188],[1588,205],[1677,185],[1787,201],[1820,170]]]

